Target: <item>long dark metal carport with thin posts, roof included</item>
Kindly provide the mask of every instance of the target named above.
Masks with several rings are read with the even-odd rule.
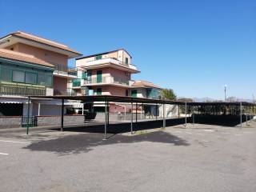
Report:
[[[62,115],[61,115],[61,127],[60,130],[63,131],[64,128],[64,102],[65,100],[75,100],[75,101],[81,101],[82,103],[93,103],[93,102],[103,102],[105,103],[105,121],[104,121],[104,139],[106,139],[107,134],[107,128],[109,126],[109,111],[108,106],[109,102],[124,102],[124,103],[130,103],[131,111],[134,109],[134,105],[136,106],[136,112],[135,112],[135,119],[134,115],[132,113],[131,119],[130,119],[130,134],[134,134],[134,120],[135,122],[138,122],[138,111],[137,106],[138,104],[155,104],[159,105],[161,104],[163,106],[163,115],[162,115],[162,127],[166,127],[166,114],[165,114],[165,106],[167,104],[170,105],[178,105],[178,106],[185,106],[185,126],[187,123],[187,113],[190,111],[192,112],[192,119],[194,123],[194,113],[200,112],[201,114],[206,114],[210,111],[210,113],[216,113],[216,107],[218,107],[220,110],[218,110],[219,114],[226,113],[226,107],[232,106],[234,109],[232,110],[234,113],[239,113],[240,116],[240,124],[242,127],[242,114],[246,114],[246,121],[247,116],[254,114],[254,106],[255,103],[250,102],[179,102],[179,101],[172,101],[172,100],[165,100],[165,99],[150,99],[150,98],[133,98],[133,97],[122,97],[122,96],[114,96],[114,95],[93,95],[93,96],[29,96],[28,97],[28,113],[27,113],[27,119],[30,118],[30,101],[33,98],[46,98],[46,99],[54,99],[62,102]],[[207,108],[206,108],[207,106]],[[224,108],[223,108],[224,106]],[[207,109],[207,110],[206,110]],[[26,126],[26,134],[29,133],[29,123],[27,123]]]

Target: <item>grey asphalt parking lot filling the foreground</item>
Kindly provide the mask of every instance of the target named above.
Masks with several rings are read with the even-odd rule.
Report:
[[[256,191],[256,122],[0,132],[0,191]],[[117,128],[117,127],[115,127]]]

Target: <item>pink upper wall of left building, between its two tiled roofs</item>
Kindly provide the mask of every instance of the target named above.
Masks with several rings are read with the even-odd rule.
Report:
[[[67,60],[68,60],[67,55],[58,54],[50,50],[42,50],[38,47],[28,46],[22,43],[17,43],[14,45],[14,47],[15,47],[14,50],[20,53],[32,54],[36,58],[40,58],[46,62],[67,66]]]

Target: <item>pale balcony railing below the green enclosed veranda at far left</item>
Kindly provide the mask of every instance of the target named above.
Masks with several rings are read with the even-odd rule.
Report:
[[[46,87],[26,85],[22,83],[13,83],[13,82],[0,82],[0,95],[43,96],[43,95],[46,95]]]

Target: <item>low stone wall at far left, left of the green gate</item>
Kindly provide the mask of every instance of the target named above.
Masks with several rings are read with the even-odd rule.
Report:
[[[14,117],[6,117],[0,116],[0,129],[5,128],[14,128],[22,126],[22,117],[14,116]]]

